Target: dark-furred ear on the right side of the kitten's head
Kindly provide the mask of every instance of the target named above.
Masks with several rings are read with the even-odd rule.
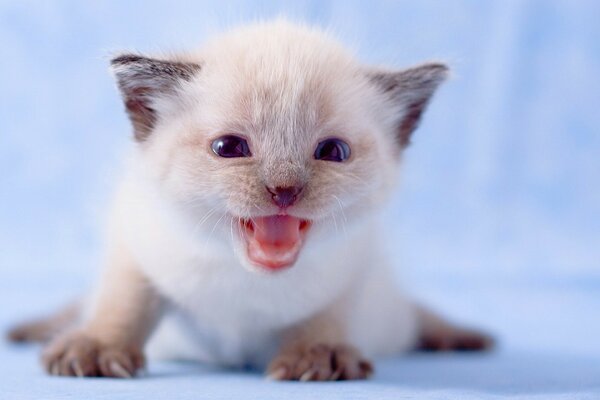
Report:
[[[396,72],[369,72],[369,79],[388,97],[398,115],[397,137],[402,148],[410,143],[431,96],[448,71],[444,64],[431,63]]]

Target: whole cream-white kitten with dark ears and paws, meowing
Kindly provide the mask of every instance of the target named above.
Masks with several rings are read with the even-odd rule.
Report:
[[[137,143],[104,274],[88,306],[12,332],[51,339],[49,373],[132,377],[147,347],[363,379],[370,357],[490,345],[404,297],[379,248],[377,210],[445,65],[364,66],[285,21],[111,64]]]

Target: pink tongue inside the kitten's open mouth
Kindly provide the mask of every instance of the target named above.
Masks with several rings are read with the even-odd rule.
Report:
[[[289,215],[256,218],[254,239],[263,248],[292,248],[300,241],[300,222]]]

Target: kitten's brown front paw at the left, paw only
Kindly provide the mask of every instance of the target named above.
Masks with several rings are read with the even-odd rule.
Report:
[[[144,366],[139,349],[104,344],[82,332],[56,338],[42,354],[51,375],[132,378]]]

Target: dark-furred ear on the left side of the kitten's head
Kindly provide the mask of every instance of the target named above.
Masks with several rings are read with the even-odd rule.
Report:
[[[189,81],[200,70],[200,65],[157,60],[134,54],[115,57],[111,69],[131,123],[135,139],[145,140],[157,120],[156,100],[172,95],[181,81]]]

